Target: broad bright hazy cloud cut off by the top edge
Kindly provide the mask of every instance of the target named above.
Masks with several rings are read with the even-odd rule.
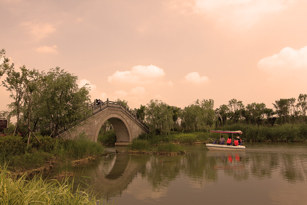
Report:
[[[192,6],[185,0],[175,0],[168,6],[170,9],[177,9],[181,14],[199,14],[223,25],[246,29],[267,15],[285,10],[293,2],[293,0],[195,0]]]

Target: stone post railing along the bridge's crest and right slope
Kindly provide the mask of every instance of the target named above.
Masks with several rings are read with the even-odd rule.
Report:
[[[149,127],[141,119],[137,118],[137,116],[134,115],[129,109],[127,109],[126,106],[122,105],[121,101],[113,102],[109,101],[109,98],[107,98],[107,101],[105,102],[101,102],[99,104],[97,104],[97,102],[93,102],[91,104],[88,104],[87,107],[92,109],[93,115],[97,114],[98,112],[101,112],[106,108],[122,109],[122,111],[125,112],[128,116],[130,116],[130,118],[134,120],[135,123],[139,124],[143,129],[149,132]]]

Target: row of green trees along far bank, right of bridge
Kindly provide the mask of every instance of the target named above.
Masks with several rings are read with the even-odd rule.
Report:
[[[251,125],[245,127],[255,127],[255,129],[285,124],[305,126],[307,120],[306,94],[300,94],[297,100],[295,98],[279,99],[273,105],[274,110],[266,108],[264,103],[252,103],[244,106],[242,101],[232,99],[227,105],[220,105],[220,108],[214,110],[214,101],[204,99],[202,101],[196,100],[181,109],[162,101],[151,100],[146,106],[141,105],[140,109],[134,109],[134,112],[139,118],[146,120],[150,130],[157,134],[167,134],[170,130],[195,132],[244,125]],[[258,127],[259,125],[262,126]],[[263,137],[263,140],[266,139],[274,140],[274,136],[273,138]]]

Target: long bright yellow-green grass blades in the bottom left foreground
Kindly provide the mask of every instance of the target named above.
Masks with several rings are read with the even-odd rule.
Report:
[[[0,166],[0,204],[105,204],[104,200],[97,200],[90,189],[82,189],[75,181],[68,182],[68,178],[59,182],[55,179],[45,181],[40,176],[26,180],[23,175],[16,179],[7,170],[6,163]]]

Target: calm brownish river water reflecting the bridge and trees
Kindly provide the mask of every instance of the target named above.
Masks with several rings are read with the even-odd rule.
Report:
[[[307,143],[245,146],[189,145],[181,156],[119,153],[75,168],[76,179],[91,177],[83,181],[118,205],[307,204]]]

